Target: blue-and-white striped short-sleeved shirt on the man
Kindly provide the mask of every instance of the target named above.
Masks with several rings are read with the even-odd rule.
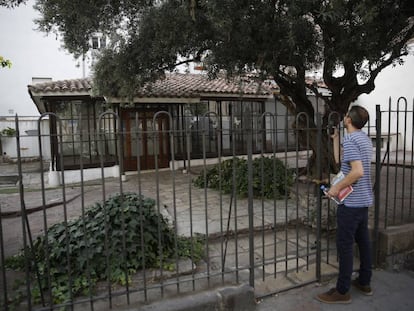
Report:
[[[347,207],[369,207],[373,204],[371,184],[372,142],[362,131],[355,131],[344,137],[341,170],[347,175],[352,161],[361,161],[364,175],[352,184],[354,191],[345,198]]]

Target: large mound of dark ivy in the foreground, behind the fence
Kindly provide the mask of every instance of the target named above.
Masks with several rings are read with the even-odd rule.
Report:
[[[39,302],[40,291],[50,289],[53,302],[60,303],[71,295],[92,294],[98,281],[125,285],[138,270],[158,268],[172,258],[199,260],[202,245],[198,237],[176,236],[153,199],[125,193],[96,203],[84,217],[51,226],[33,248],[8,258],[6,266],[24,269],[29,256],[33,278],[34,264],[40,276],[32,281],[33,298]]]

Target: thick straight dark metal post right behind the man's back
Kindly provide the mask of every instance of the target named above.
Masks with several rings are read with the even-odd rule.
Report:
[[[375,119],[375,186],[374,186],[374,239],[372,241],[372,254],[374,266],[378,264],[378,239],[379,239],[379,213],[380,213],[380,189],[381,189],[381,107],[376,105]]]

